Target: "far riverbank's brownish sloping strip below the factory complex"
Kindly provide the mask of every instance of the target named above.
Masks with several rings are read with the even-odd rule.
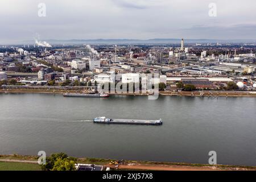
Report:
[[[81,90],[52,90],[52,89],[0,89],[0,93],[44,93],[44,94],[64,94],[77,93]],[[256,92],[253,91],[216,91],[205,90],[203,93],[199,91],[194,92],[171,92],[160,91],[163,96],[191,96],[191,97],[256,97]],[[120,96],[148,96],[146,93],[110,93],[110,95]]]

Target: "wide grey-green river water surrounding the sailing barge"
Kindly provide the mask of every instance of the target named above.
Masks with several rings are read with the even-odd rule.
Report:
[[[256,166],[256,98],[0,94],[0,154],[66,152],[90,158]],[[163,126],[104,125],[97,116],[163,119]]]

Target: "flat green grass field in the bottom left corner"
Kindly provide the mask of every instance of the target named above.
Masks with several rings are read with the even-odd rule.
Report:
[[[0,171],[40,171],[38,164],[16,163],[16,162],[0,162]]]

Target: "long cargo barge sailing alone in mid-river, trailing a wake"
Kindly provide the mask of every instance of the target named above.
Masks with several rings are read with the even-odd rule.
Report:
[[[106,124],[128,124],[128,125],[163,125],[162,119],[148,120],[148,119],[111,119],[106,117],[97,117],[93,119],[94,123]]]

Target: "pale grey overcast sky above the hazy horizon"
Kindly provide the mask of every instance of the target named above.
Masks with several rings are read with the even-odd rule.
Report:
[[[46,17],[38,4],[46,4]],[[209,3],[217,5],[210,17]],[[0,44],[46,39],[256,39],[255,0],[0,0]]]

